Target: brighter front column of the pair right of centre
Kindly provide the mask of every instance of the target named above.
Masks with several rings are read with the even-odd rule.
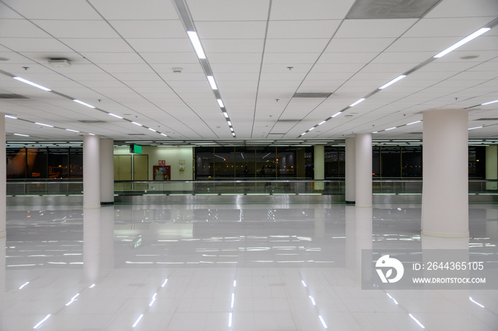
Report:
[[[372,206],[372,135],[361,133],[355,137],[356,205]]]

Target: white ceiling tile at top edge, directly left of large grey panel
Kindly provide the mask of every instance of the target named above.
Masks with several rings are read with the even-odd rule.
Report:
[[[273,0],[271,20],[344,19],[354,0]]]

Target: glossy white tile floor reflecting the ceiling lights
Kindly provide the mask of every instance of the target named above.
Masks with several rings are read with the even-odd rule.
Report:
[[[1,330],[422,330],[409,314],[498,330],[498,290],[391,299],[361,290],[358,268],[361,248],[496,253],[498,205],[470,205],[465,240],[421,240],[420,205],[79,208],[8,208]]]

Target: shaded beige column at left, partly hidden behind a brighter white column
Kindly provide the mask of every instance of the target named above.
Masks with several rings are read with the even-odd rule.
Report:
[[[114,204],[114,140],[100,140],[100,204]]]

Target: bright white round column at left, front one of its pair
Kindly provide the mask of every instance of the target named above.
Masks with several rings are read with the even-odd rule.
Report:
[[[100,136],[83,136],[83,208],[100,208]]]

